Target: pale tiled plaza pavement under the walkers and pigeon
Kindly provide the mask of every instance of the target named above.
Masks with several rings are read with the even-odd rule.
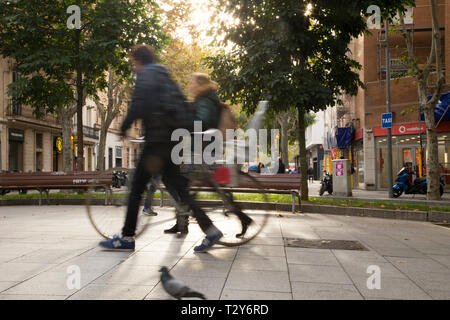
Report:
[[[173,216],[158,208],[152,222]],[[184,239],[155,223],[134,253],[101,251],[82,206],[0,207],[0,299],[168,299],[162,265],[209,299],[450,299],[450,229],[430,223],[273,213],[239,248],[195,254],[196,224]],[[291,248],[283,237],[357,240],[369,251]],[[68,289],[68,267],[81,288]],[[367,288],[369,265],[381,289]]]

